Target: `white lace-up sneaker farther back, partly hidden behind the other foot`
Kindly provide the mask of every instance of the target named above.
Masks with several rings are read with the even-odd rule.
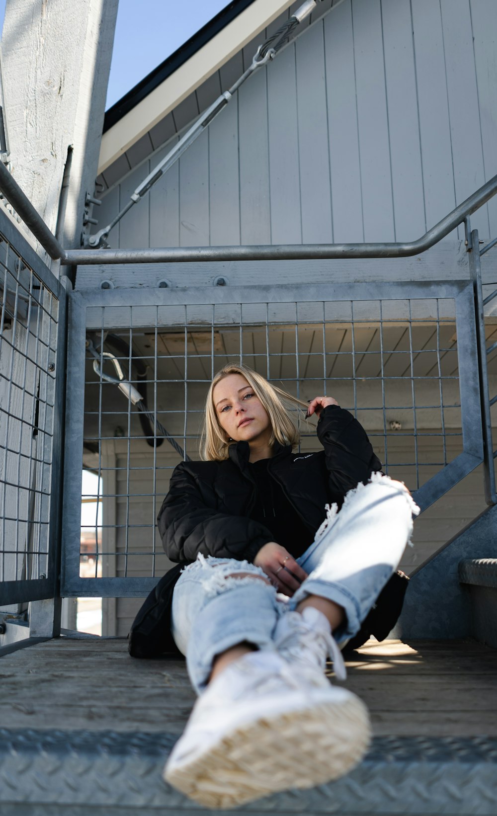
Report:
[[[303,663],[324,671],[326,659],[333,661],[337,680],[345,680],[347,669],[344,658],[331,636],[326,615],[313,606],[304,612],[285,612],[277,622],[274,642],[279,654],[289,663]]]

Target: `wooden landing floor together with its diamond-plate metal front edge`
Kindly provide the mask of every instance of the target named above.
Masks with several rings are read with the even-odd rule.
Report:
[[[373,725],[361,765],[223,812],[495,816],[497,652],[368,641],[345,658]],[[195,698],[184,661],[131,659],[118,638],[64,637],[2,657],[0,687],[0,816],[209,813],[162,780]]]

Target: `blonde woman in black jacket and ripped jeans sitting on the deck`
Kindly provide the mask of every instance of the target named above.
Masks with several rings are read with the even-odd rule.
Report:
[[[200,694],[165,778],[216,808],[325,783],[362,759],[366,707],[331,686],[326,658],[344,679],[339,645],[396,569],[417,512],[332,397],[308,405],[323,450],[293,454],[282,396],[225,366],[207,396],[205,461],[175,468],[158,517],[167,555],[189,564],[171,628]]]

